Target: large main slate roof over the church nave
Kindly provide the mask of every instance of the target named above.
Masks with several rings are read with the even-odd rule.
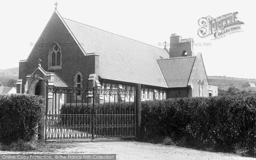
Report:
[[[87,53],[99,54],[102,79],[168,87],[157,59],[169,58],[165,49],[63,18]]]

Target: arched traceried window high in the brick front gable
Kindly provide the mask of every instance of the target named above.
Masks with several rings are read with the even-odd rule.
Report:
[[[55,43],[50,49],[48,54],[48,69],[49,70],[58,70],[61,69],[61,48]]]

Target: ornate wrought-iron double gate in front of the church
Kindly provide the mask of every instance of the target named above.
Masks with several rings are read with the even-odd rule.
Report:
[[[135,90],[47,86],[45,139],[135,137]]]

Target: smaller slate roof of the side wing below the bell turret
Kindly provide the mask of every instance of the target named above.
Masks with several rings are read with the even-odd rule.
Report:
[[[196,56],[157,60],[169,88],[186,87]]]

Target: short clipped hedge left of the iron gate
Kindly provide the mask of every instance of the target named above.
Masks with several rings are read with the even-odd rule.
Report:
[[[30,141],[37,134],[43,98],[28,94],[0,95],[0,142]]]

